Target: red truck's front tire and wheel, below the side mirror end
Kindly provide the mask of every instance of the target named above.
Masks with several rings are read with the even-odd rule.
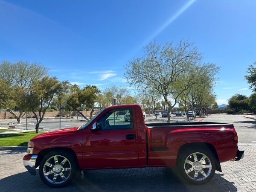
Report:
[[[50,187],[66,186],[76,176],[78,163],[66,151],[51,151],[42,159],[39,175],[44,184]]]

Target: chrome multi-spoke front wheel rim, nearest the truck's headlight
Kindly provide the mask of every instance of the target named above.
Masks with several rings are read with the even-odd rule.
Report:
[[[53,184],[64,183],[71,175],[70,161],[61,155],[49,157],[44,163],[44,177]]]

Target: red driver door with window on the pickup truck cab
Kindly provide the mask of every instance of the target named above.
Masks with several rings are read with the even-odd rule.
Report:
[[[134,116],[132,108],[111,109],[97,121],[101,128],[99,131],[90,130],[87,131],[88,134],[84,134],[85,169],[138,166],[138,140]]]

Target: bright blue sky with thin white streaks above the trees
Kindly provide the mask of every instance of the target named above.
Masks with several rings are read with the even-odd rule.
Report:
[[[0,61],[40,62],[72,83],[126,85],[124,66],[142,47],[182,38],[221,67],[218,105],[256,61],[256,0],[0,0]],[[214,73],[214,72],[213,72]]]

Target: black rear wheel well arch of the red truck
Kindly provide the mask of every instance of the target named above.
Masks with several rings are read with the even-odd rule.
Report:
[[[214,148],[214,146],[210,143],[186,143],[184,145],[181,145],[177,154],[176,166],[177,166],[177,163],[180,162],[180,157],[182,156],[182,152],[188,148],[203,148],[203,149],[206,149],[207,151],[210,151],[213,154],[213,157],[215,159],[216,170],[219,172],[222,172],[221,163],[218,159],[217,151]]]

